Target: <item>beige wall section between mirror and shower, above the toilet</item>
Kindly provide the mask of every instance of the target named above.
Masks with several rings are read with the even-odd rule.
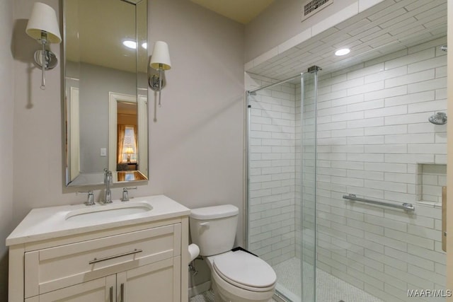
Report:
[[[148,191],[191,208],[241,209],[243,26],[186,0],[154,0],[149,11],[150,49],[156,40],[168,42],[172,68],[157,122],[150,118]]]

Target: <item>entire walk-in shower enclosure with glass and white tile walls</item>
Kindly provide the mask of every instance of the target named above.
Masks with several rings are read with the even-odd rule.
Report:
[[[247,245],[275,269],[284,300],[451,294],[447,130],[430,122],[447,112],[445,42],[285,81],[249,74]]]

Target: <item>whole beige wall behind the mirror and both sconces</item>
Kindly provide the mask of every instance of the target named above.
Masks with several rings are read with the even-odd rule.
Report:
[[[47,89],[40,90],[40,71],[32,64],[33,52],[39,45],[25,34],[34,1],[7,2],[14,6],[16,21],[15,60],[6,69],[14,71],[16,86],[9,99],[13,92],[16,96],[14,103],[0,102],[0,114],[9,119],[1,119],[1,129],[13,126],[15,139],[12,141],[11,134],[7,134],[1,138],[1,145],[13,144],[15,156],[13,165],[7,163],[11,165],[9,169],[1,170],[9,171],[2,175],[1,185],[13,186],[13,192],[0,192],[4,202],[8,201],[3,198],[4,192],[10,191],[10,201],[1,211],[8,217],[13,196],[16,226],[32,208],[79,204],[86,196],[63,187],[61,62],[47,72]],[[43,2],[59,10],[58,0]],[[156,40],[168,42],[172,69],[166,74],[168,83],[162,92],[163,105],[158,108],[157,122],[152,122],[154,99],[149,99],[150,180],[130,195],[166,194],[189,208],[231,203],[242,209],[243,25],[186,0],[154,0],[149,4],[149,45]],[[12,11],[12,7],[1,9],[2,23],[11,19]],[[8,35],[12,31],[11,25],[1,27],[2,42],[10,44]],[[59,45],[52,45],[51,49],[61,58]],[[1,56],[8,58],[11,54],[1,52]],[[0,85],[13,85],[11,80],[7,83],[1,81]],[[152,91],[150,95],[153,96]],[[4,106],[9,106],[5,108],[8,110]],[[5,150],[2,147],[0,153]],[[7,158],[11,158],[12,151],[7,152]],[[99,192],[95,191],[96,199]],[[121,187],[113,190],[113,198],[120,198],[120,194]],[[0,221],[4,223],[3,219]],[[238,234],[241,243],[242,226]],[[3,243],[0,247],[5,250]]]

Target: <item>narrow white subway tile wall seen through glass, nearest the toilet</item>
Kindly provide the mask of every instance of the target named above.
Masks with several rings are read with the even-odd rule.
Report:
[[[296,85],[257,91],[248,102],[248,249],[277,265],[295,256]]]

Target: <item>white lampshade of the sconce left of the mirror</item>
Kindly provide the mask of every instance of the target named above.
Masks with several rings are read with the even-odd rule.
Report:
[[[47,42],[62,42],[55,10],[47,4],[35,2],[25,32],[33,39],[40,40],[41,31],[47,33]]]

